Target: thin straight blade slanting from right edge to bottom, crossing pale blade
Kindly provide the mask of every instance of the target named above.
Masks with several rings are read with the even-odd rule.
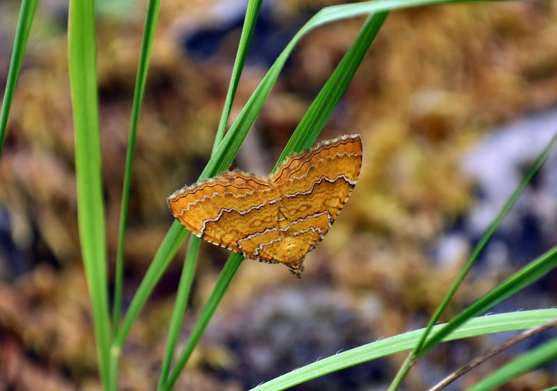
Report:
[[[411,361],[414,360],[414,358],[418,355],[418,352],[422,349],[422,346],[425,343],[425,339],[430,334],[430,330],[432,326],[436,324],[437,321],[439,320],[439,317],[441,317],[441,313],[447,307],[450,299],[453,298],[455,292],[457,291],[458,287],[460,287],[460,285],[462,284],[464,278],[468,275],[473,264],[476,263],[476,260],[478,259],[478,255],[480,255],[480,253],[485,248],[485,246],[487,246],[487,243],[489,242],[489,239],[492,238],[495,230],[499,227],[499,225],[501,225],[501,221],[503,221],[503,218],[505,218],[505,216],[508,214],[512,206],[515,205],[519,196],[524,191],[524,189],[526,189],[526,186],[528,186],[528,184],[531,182],[534,175],[538,173],[540,168],[542,168],[543,163],[547,160],[547,157],[549,157],[549,153],[551,152],[556,140],[557,140],[557,133],[551,138],[549,143],[547,143],[544,150],[542,150],[542,152],[540,153],[538,158],[534,161],[534,163],[532,164],[532,166],[530,167],[526,175],[524,175],[524,177],[522,178],[521,182],[517,186],[517,189],[515,189],[515,191],[512,192],[512,195],[505,202],[505,205],[503,205],[503,207],[499,211],[499,214],[497,214],[494,221],[489,225],[486,232],[483,234],[482,238],[476,245],[476,248],[474,248],[472,253],[470,254],[468,260],[466,261],[466,264],[464,265],[464,268],[462,269],[462,271],[460,271],[455,282],[453,282],[453,285],[450,287],[447,294],[443,298],[443,301],[441,301],[441,304],[439,305],[434,315],[430,319],[429,323],[427,324],[427,327],[425,328],[421,340],[418,342],[418,344],[416,344],[416,346],[414,346],[414,350],[409,354],[405,362],[400,367],[397,375],[393,379],[393,383],[391,383],[391,386],[389,387],[389,390],[397,390],[400,387],[400,384],[402,383],[403,379],[405,378],[405,376],[407,375],[410,369]]]

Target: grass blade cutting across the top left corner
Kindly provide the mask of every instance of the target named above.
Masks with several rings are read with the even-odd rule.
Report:
[[[2,154],[2,146],[4,136],[6,136],[6,127],[8,126],[8,116],[12,106],[13,94],[15,93],[15,85],[19,70],[22,67],[23,55],[27,46],[27,38],[31,31],[31,24],[35,17],[38,0],[23,0],[19,9],[19,19],[17,20],[17,28],[15,29],[15,38],[13,41],[12,58],[10,59],[10,68],[8,69],[8,79],[6,79],[6,90],[4,90],[4,98],[2,101],[2,109],[0,111],[0,156]]]

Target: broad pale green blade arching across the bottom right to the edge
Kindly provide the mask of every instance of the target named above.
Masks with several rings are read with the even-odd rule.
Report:
[[[557,309],[551,310],[533,310],[510,312],[507,314],[489,315],[486,317],[478,317],[470,319],[458,330],[455,330],[450,335],[444,337],[443,341],[461,340],[463,338],[475,337],[478,335],[487,335],[493,333],[505,333],[515,330],[526,330],[545,324],[557,317]],[[433,327],[434,331],[443,328],[444,324]],[[253,391],[277,391],[285,390],[293,387],[294,385],[304,383],[313,378],[336,372],[340,369],[353,367],[354,365],[362,364],[370,360],[390,356],[394,353],[399,353],[408,349],[412,349],[424,329],[409,331],[408,333],[395,335],[394,337],[377,340],[370,344],[358,346],[357,348],[350,349],[337,353],[334,356],[329,356],[317,362],[312,362],[309,365],[298,368],[283,374],[277,378],[267,381],[253,388]]]

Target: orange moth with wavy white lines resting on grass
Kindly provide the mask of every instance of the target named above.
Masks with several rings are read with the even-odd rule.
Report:
[[[197,237],[246,258],[299,273],[350,197],[361,168],[359,134],[323,141],[267,177],[228,171],[168,197]]]

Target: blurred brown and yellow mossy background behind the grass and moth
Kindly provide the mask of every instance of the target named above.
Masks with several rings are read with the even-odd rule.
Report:
[[[232,117],[295,32],[328,0],[265,1]],[[146,1],[98,1],[97,71],[111,271]],[[125,305],[173,218],[166,197],[196,181],[220,118],[245,1],[165,0],[139,122],[125,264]],[[0,86],[19,1],[0,2]],[[66,23],[39,3],[0,161],[0,390],[100,390],[79,238]],[[267,175],[362,18],[322,26],[295,49],[233,167]],[[481,234],[557,130],[557,4],[473,3],[391,13],[321,134],[359,133],[359,183],[301,280],[243,262],[177,390],[244,390],[338,351],[427,323]],[[557,243],[557,156],[471,271],[442,319]],[[123,390],[152,390],[185,246],[136,322]],[[226,261],[203,244],[182,343]],[[112,274],[112,273],[111,273]],[[494,312],[551,308],[557,273]],[[553,335],[556,335],[554,333]],[[461,378],[466,388],[543,334]],[[510,337],[444,344],[410,372],[409,390]],[[295,390],[382,390],[405,354]],[[505,390],[557,382],[557,365]]]

